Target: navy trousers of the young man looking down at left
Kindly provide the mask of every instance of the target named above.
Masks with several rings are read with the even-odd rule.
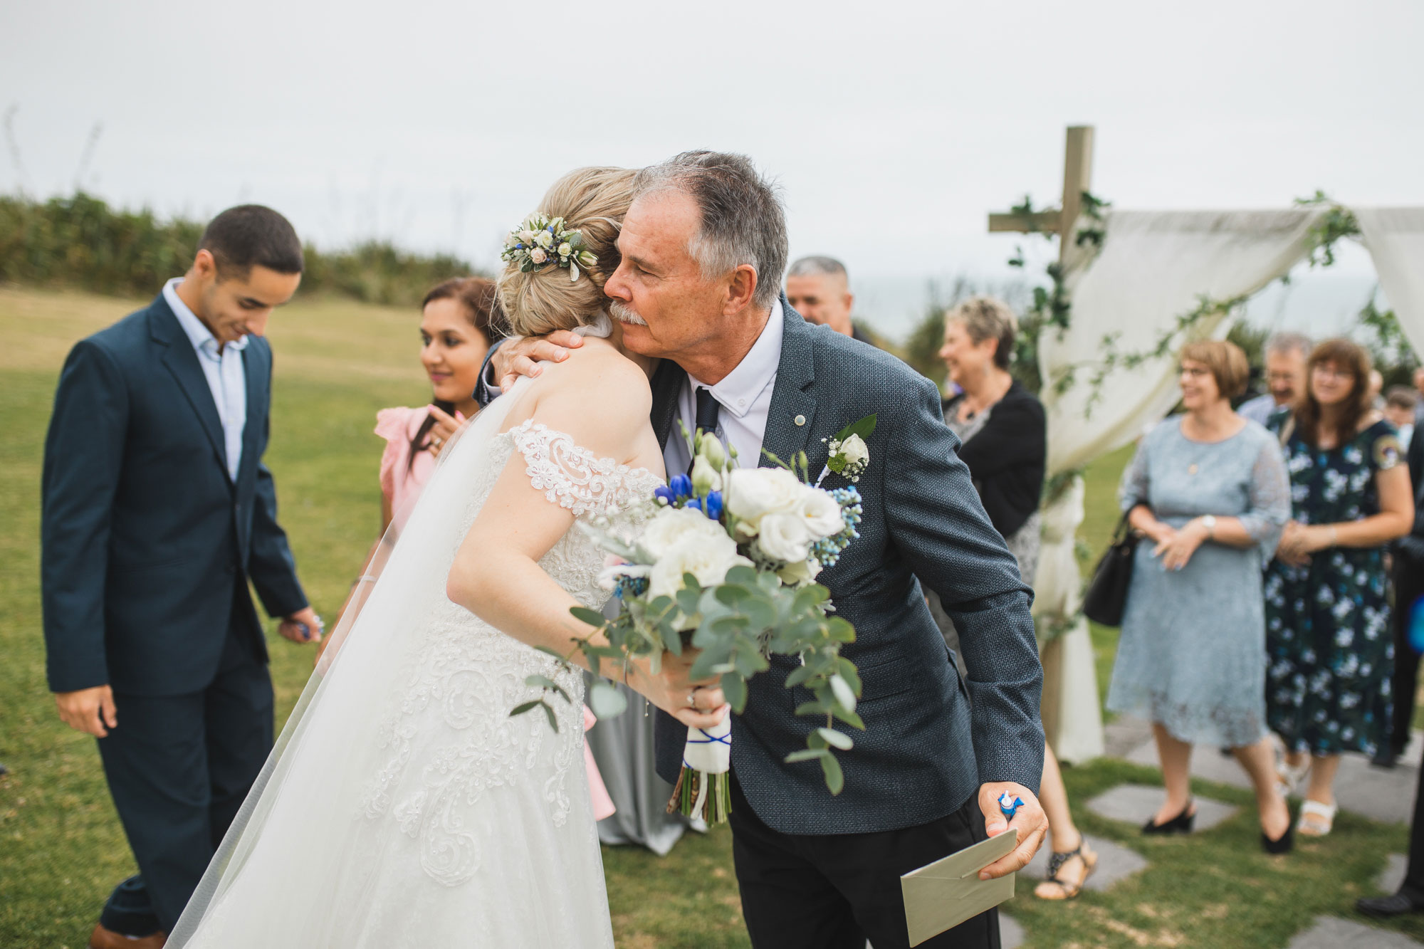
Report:
[[[118,727],[98,750],[138,875],[104,905],[108,929],[172,932],[272,750],[272,678],[242,606],[205,690],[114,695]]]

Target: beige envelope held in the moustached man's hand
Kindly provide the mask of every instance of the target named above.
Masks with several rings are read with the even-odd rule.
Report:
[[[978,872],[1015,846],[1017,826],[901,876],[900,891],[904,893],[910,945],[918,946],[930,936],[958,926],[1012,896],[1017,873],[980,879]]]

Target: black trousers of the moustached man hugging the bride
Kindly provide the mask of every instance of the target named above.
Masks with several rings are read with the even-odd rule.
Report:
[[[970,798],[923,826],[874,834],[780,834],[762,824],[732,778],[732,855],[742,915],[756,949],[909,948],[900,875],[985,838]],[[920,943],[998,949],[990,909]]]

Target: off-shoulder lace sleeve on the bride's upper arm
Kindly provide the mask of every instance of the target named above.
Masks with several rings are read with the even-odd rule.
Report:
[[[533,419],[510,429],[510,437],[524,456],[530,484],[574,517],[617,514],[651,494],[658,484],[656,476],[646,469],[598,457],[578,446],[572,436]]]

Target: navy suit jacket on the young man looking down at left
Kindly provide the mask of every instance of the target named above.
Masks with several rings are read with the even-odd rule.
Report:
[[[44,442],[41,583],[50,688],[205,688],[234,623],[261,657],[248,580],[272,616],[306,606],[276,522],[272,351],[242,352],[236,482],[198,353],[164,296],[70,352]]]

